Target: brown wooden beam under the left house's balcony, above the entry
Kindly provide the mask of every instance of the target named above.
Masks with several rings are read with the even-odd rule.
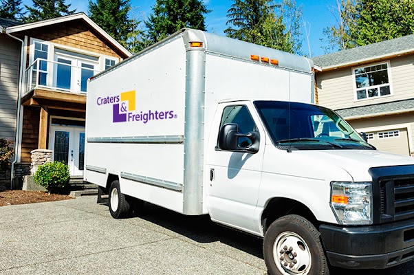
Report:
[[[67,111],[86,111],[86,95],[49,89],[33,89],[21,99],[24,106],[46,107]]]

